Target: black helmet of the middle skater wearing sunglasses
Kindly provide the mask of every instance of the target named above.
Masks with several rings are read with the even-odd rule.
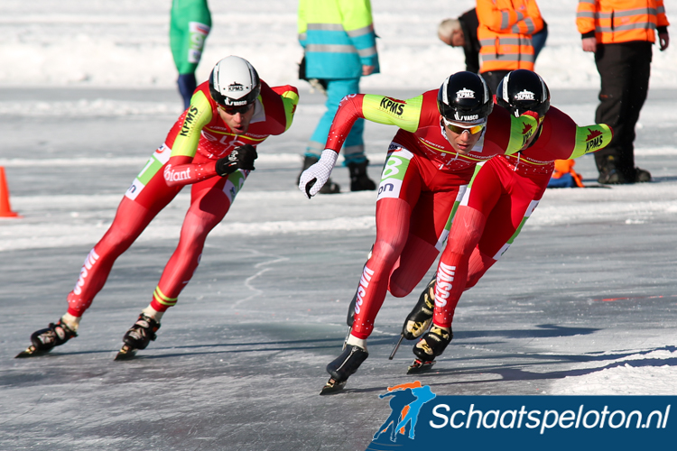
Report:
[[[487,118],[494,101],[484,78],[472,72],[457,72],[442,83],[437,108],[448,121],[476,122]]]

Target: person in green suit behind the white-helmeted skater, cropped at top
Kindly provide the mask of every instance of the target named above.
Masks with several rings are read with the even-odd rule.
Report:
[[[179,71],[177,85],[184,109],[190,106],[190,97],[198,86],[195,69],[198,69],[210,29],[211,14],[207,0],[172,0],[170,47]]]

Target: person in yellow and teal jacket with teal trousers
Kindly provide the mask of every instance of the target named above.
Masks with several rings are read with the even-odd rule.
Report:
[[[305,52],[304,78],[321,80],[327,94],[327,112],[311,135],[302,172],[320,160],[341,99],[359,93],[359,79],[380,70],[370,0],[299,0],[298,25],[299,41]],[[360,119],[353,125],[343,148],[351,191],[376,189],[366,174],[369,161],[365,156],[363,131],[364,120]],[[320,193],[339,190],[338,185],[329,180]]]

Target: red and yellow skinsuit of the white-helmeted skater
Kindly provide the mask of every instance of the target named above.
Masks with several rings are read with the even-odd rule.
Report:
[[[85,259],[79,280],[68,296],[70,315],[82,316],[106,283],[117,257],[185,185],[192,185],[179,245],[164,267],[151,306],[165,311],[176,304],[198,267],[207,235],[226,216],[249,172],[236,170],[219,177],[216,161],[236,147],[257,146],[272,134],[282,134],[292,124],[299,100],[297,89],[271,88],[263,81],[261,85],[251,123],[241,135],[232,133],[218,115],[217,104],[209,95],[209,82],[199,85],[189,108],[127,189],[106,235]]]

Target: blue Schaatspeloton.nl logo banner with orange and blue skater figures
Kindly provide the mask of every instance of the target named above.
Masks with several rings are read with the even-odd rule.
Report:
[[[388,400],[390,414],[370,451],[478,443],[482,449],[567,451],[576,443],[577,451],[598,451],[602,445],[631,449],[662,441],[669,449],[677,437],[674,396],[439,396],[416,381],[388,387],[378,397]]]

